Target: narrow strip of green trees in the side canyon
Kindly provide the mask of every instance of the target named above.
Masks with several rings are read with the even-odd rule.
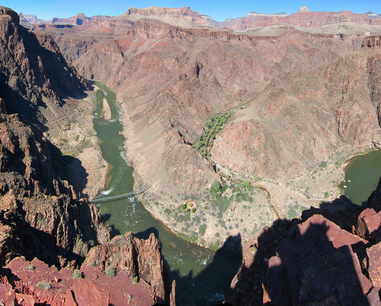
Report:
[[[210,148],[216,139],[216,135],[222,130],[222,127],[230,116],[231,112],[225,112],[211,116],[210,119],[206,121],[204,134],[199,136],[199,141],[197,145],[195,145],[195,149],[200,151],[203,158],[210,157]]]

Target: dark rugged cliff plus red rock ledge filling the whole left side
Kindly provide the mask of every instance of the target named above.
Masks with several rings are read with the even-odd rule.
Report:
[[[136,268],[135,275],[141,279],[136,287],[133,278],[121,269],[116,269],[116,277],[110,282],[104,270],[92,265],[83,265],[86,279],[73,282],[73,270],[69,269],[77,268],[92,246],[107,244],[111,228],[99,209],[86,198],[78,199],[73,186],[63,179],[62,154],[41,131],[46,126],[43,112],[38,110],[60,107],[66,101],[62,96],[83,91],[86,85],[63,59],[49,34],[37,34],[46,38],[41,45],[35,34],[20,27],[15,12],[2,8],[1,13],[4,47],[0,56],[5,60],[0,86],[5,90],[0,94],[0,264],[6,268],[0,272],[0,301],[6,305],[83,305],[92,300],[95,304],[110,301],[123,305],[127,298],[134,304],[152,304],[156,293],[148,282],[158,292],[167,286],[159,244],[153,237],[146,242],[128,236],[134,239],[139,264],[146,259],[158,261],[155,266],[143,262],[144,266]],[[30,50],[40,59],[38,69],[29,60]],[[51,53],[59,61],[53,59],[52,63],[57,64],[54,73],[61,76],[60,84],[49,79],[53,73]],[[75,99],[69,101],[74,103]],[[107,250],[102,254],[109,256]],[[136,258],[121,253],[120,260],[132,263]],[[47,284],[40,285],[44,289],[36,287],[40,281]],[[121,299],[126,284],[132,297]],[[47,290],[48,285],[52,291]],[[160,297],[168,298],[164,294]]]

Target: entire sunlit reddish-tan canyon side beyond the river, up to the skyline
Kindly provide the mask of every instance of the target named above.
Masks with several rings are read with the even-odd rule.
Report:
[[[326,193],[339,196],[331,182],[343,172],[335,163],[379,138],[376,103],[364,94],[366,69],[372,69],[367,61],[375,57],[376,64],[378,49],[362,48],[368,37],[363,25],[379,31],[379,16],[348,13],[356,16],[350,17],[355,30],[327,34],[323,23],[330,14],[302,9],[287,17],[290,24],[237,32],[189,8],[131,8],[75,26],[31,29],[51,33],[83,77],[115,91],[135,181],[150,181],[138,197],[148,211],[175,233],[211,247],[238,233],[249,240],[278,216],[297,217],[317,205]],[[312,16],[321,22],[307,29],[300,20]],[[225,111],[232,115],[203,158],[194,147],[204,124]],[[315,175],[328,159],[327,171]],[[270,198],[249,194],[255,207],[228,189],[220,207],[210,194],[220,175],[249,180]],[[190,216],[181,210],[188,199],[196,208]],[[206,226],[203,235],[200,226]]]

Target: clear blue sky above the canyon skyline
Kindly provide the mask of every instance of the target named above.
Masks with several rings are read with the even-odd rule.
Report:
[[[301,2],[300,2],[301,1]],[[41,19],[52,19],[53,17],[70,17],[78,13],[87,16],[111,15],[116,16],[124,13],[130,7],[145,8],[149,6],[177,7],[190,6],[199,13],[211,16],[217,21],[228,18],[243,17],[248,12],[258,13],[295,13],[300,6],[305,5],[310,11],[347,11],[354,13],[365,13],[370,10],[381,14],[380,0],[339,0],[320,2],[315,1],[207,1],[207,0],[3,0],[1,5],[10,7],[17,13],[35,14]]]

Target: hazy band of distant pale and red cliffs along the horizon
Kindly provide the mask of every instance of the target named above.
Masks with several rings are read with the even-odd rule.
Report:
[[[70,18],[53,18],[52,20],[43,20],[38,19],[35,15],[21,15],[30,23],[77,25],[83,24],[85,22],[96,21],[99,19],[113,18],[113,16],[105,15],[87,17],[83,13],[80,13]],[[312,30],[314,28],[324,27],[329,24],[337,23],[342,25],[348,23],[352,25],[356,24],[363,26],[381,25],[381,15],[370,11],[364,14],[355,14],[351,11],[311,12],[305,6],[302,6],[298,12],[291,15],[287,15],[284,12],[276,14],[250,12],[245,17],[227,19],[222,22],[215,21],[210,16],[195,12],[189,7],[182,7],[180,9],[162,7],[138,9],[132,7],[125,13],[116,16],[116,18],[123,18],[131,21],[140,19],[155,19],[183,28],[213,27],[226,28],[238,32],[253,30],[257,28],[279,26],[291,26]],[[329,29],[330,27],[328,27],[328,30],[326,31],[329,31]]]

